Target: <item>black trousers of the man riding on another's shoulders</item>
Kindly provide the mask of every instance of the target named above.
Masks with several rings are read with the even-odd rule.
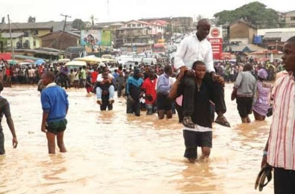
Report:
[[[194,94],[196,88],[196,82],[194,76],[184,75],[182,78],[184,83],[183,89],[183,116],[191,116],[194,113]],[[210,73],[206,73],[203,82],[212,86],[212,95],[214,97],[213,101],[215,103],[215,111],[225,113],[226,105],[224,101],[224,88],[218,82],[213,82]]]

